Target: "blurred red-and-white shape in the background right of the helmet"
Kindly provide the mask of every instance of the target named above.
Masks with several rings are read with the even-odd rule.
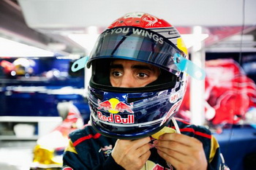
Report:
[[[256,85],[232,59],[206,61],[206,119],[213,125],[237,124],[256,107]],[[189,86],[177,115],[190,120]]]

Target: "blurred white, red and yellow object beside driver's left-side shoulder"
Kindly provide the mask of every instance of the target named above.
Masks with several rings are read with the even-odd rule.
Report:
[[[62,154],[69,143],[69,133],[83,128],[83,117],[77,107],[67,104],[67,117],[50,134],[41,136],[34,147],[31,169],[61,169]]]

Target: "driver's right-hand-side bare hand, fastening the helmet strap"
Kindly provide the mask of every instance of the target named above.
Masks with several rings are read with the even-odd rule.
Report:
[[[184,134],[163,134],[154,141],[158,154],[176,169],[206,170],[203,144]]]

